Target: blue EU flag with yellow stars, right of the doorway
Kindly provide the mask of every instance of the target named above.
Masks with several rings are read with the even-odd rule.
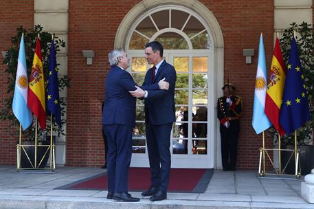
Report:
[[[306,96],[297,43],[293,38],[280,109],[280,124],[289,135],[308,120],[310,120],[309,100]]]

